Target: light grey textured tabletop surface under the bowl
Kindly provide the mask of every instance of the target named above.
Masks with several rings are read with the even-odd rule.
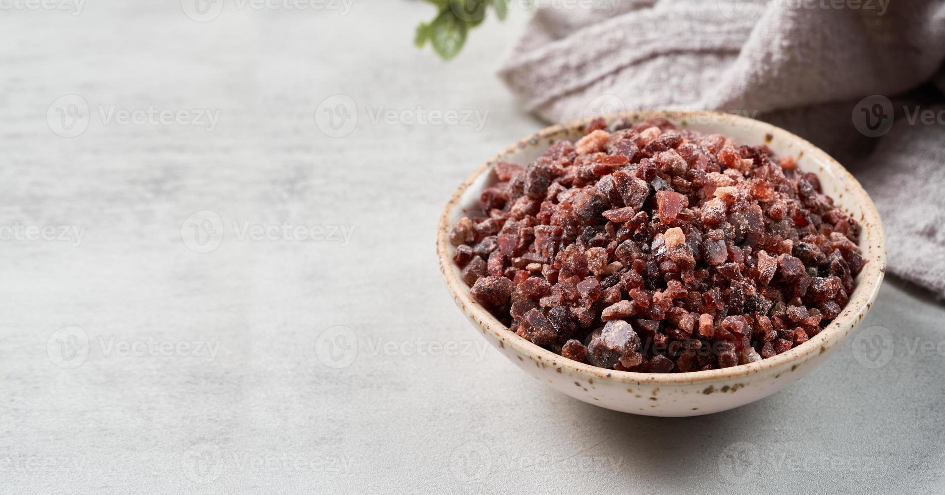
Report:
[[[350,7],[0,12],[0,225],[85,228],[0,242],[0,492],[942,491],[945,311],[894,280],[860,347],[710,417],[595,408],[484,348],[434,230],[461,179],[541,127],[493,76],[527,14],[444,64],[410,45],[428,5]],[[88,127],[63,138],[47,111],[68,94]],[[335,94],[357,120],[332,138],[316,114]],[[219,123],[99,114],[148,106]],[[352,237],[240,240],[232,222]],[[195,225],[219,247],[188,248]]]

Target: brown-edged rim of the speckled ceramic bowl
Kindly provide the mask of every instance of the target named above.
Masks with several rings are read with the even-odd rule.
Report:
[[[456,276],[455,265],[449,255],[447,246],[448,230],[450,228],[451,218],[453,217],[451,213],[455,210],[463,194],[469,189],[472,183],[482,174],[489,172],[491,166],[502,157],[528,145],[539,145],[541,140],[557,134],[564,134],[573,130],[582,130],[596,118],[586,117],[542,128],[538,132],[519,140],[515,144],[508,145],[505,149],[490,158],[490,160],[479,165],[469,177],[463,180],[453,196],[450,197],[449,202],[440,215],[437,229],[437,255],[440,273],[443,275],[450,292],[453,293],[456,304],[459,305],[467,315],[471,316],[483,331],[489,330],[500,342],[506,342],[515,350],[527,356],[538,360],[546,360],[549,363],[554,363],[556,367],[564,367],[578,374],[592,375],[599,379],[621,383],[697,384],[741,377],[764,372],[773,368],[784,367],[791,363],[807,361],[807,359],[811,357],[816,357],[815,352],[818,349],[820,353],[823,353],[825,351],[824,347],[827,344],[831,343],[833,345],[838,343],[834,341],[843,339],[850,333],[851,329],[863,319],[863,316],[866,316],[869,307],[876,299],[876,295],[885,275],[885,234],[883,232],[883,224],[876,210],[876,206],[863,189],[863,186],[860,185],[859,181],[853,178],[852,174],[844,168],[842,164],[834,160],[833,157],[810,142],[783,128],[730,113],[717,111],[646,110],[619,111],[601,116],[603,116],[608,123],[612,122],[613,119],[621,117],[629,118],[633,122],[644,122],[652,117],[663,117],[673,122],[681,122],[682,125],[685,125],[686,119],[713,119],[709,122],[712,122],[713,125],[718,125],[720,133],[723,133],[723,129],[727,127],[739,125],[759,126],[763,131],[766,131],[766,134],[770,134],[772,137],[780,137],[785,141],[795,142],[799,145],[799,148],[804,154],[814,155],[816,162],[822,163],[825,170],[828,168],[831,169],[833,175],[844,182],[847,191],[851,193],[849,196],[855,196],[855,202],[860,204],[862,210],[859,219],[860,225],[863,227],[861,245],[864,244],[864,240],[869,241],[866,243],[867,246],[863,252],[863,257],[867,260],[867,264],[863,267],[863,271],[857,276],[857,286],[853,289],[850,301],[842,309],[840,315],[834,318],[827,327],[811,337],[807,342],[797,347],[746,365],[700,371],[642,373],[595,367],[585,363],[578,363],[560,354],[556,354],[551,350],[546,350],[512,332],[507,326],[497,320],[495,316],[492,316],[485,308],[475,302],[470,295],[469,287]],[[851,198],[851,200],[853,200],[853,198]],[[847,330],[847,332],[843,333],[844,330]]]

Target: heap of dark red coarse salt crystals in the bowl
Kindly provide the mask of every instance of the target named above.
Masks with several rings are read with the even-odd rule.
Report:
[[[500,162],[486,216],[450,231],[474,299],[575,361],[667,373],[806,342],[866,261],[815,174],[764,145],[603,119],[535,162]]]

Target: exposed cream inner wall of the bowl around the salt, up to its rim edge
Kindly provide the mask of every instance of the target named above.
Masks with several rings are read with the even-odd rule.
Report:
[[[644,122],[655,116],[667,118],[678,128],[688,128],[706,134],[725,134],[735,141],[737,145],[767,145],[779,157],[795,157],[800,170],[816,173],[820,179],[823,192],[833,197],[834,204],[849,213],[862,227],[859,247],[863,251],[862,254],[867,264],[854,280],[855,288],[851,294],[850,302],[843,309],[840,316],[834,318],[833,322],[823,331],[807,342],[762,361],[723,369],[668,374],[615,371],[561,359],[560,356],[550,350],[536,346],[523,337],[509,331],[507,327],[502,325],[469,296],[469,287],[460,281],[460,270],[452,262],[455,247],[446,242],[446,236],[449,230],[452,229],[455,221],[460,217],[484,214],[478,210],[479,196],[485,188],[498,181],[493,171],[493,166],[496,162],[513,162],[520,165],[527,165],[539,158],[548,146],[552,145],[554,142],[560,139],[574,141],[583,136],[587,125],[592,119],[582,119],[545,128],[519,141],[515,145],[508,146],[507,149],[497,154],[489,162],[486,162],[476,170],[476,172],[460,186],[459,190],[456,191],[455,196],[447,205],[440,220],[438,251],[440,267],[444,276],[447,278],[447,283],[455,293],[458,293],[455,294],[457,303],[464,306],[472,306],[466,308],[471,315],[475,316],[477,320],[489,327],[491,331],[500,334],[504,333],[504,335],[501,335],[504,337],[504,340],[507,340],[516,348],[521,348],[521,350],[526,353],[542,356],[544,359],[557,357],[558,361],[565,362],[565,366],[574,367],[576,370],[590,372],[602,377],[604,376],[603,373],[606,372],[606,377],[609,379],[627,379],[628,381],[640,381],[644,379],[644,377],[647,381],[652,381],[655,377],[659,377],[659,379],[666,382],[691,382],[701,379],[709,380],[721,376],[730,376],[731,374],[743,372],[759,371],[765,367],[774,367],[787,361],[797,360],[817,350],[821,346],[827,344],[833,345],[837,340],[845,337],[851,328],[851,325],[848,325],[851,323],[851,320],[855,320],[855,324],[855,322],[866,314],[869,305],[876,297],[876,291],[885,274],[885,237],[882,223],[879,214],[876,212],[876,207],[859,182],[853,179],[850,172],[840,165],[840,163],[833,160],[827,153],[816,146],[782,128],[777,128],[770,124],[746,117],[702,111],[642,111],[612,114],[605,118],[609,123],[617,117],[629,118],[633,122]],[[844,331],[844,329],[847,330]]]

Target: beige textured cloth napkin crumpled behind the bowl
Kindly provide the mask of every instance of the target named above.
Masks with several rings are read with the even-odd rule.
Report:
[[[843,162],[889,270],[945,296],[945,2],[584,1],[536,11],[499,71],[527,111],[717,110]]]

